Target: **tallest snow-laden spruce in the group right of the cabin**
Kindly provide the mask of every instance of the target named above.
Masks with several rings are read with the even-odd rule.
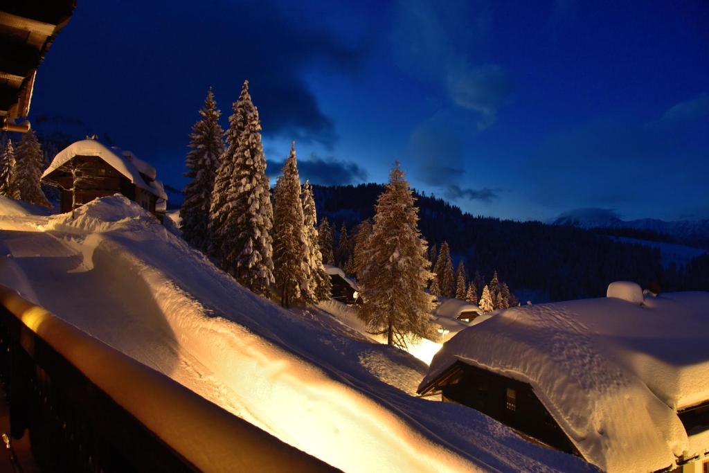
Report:
[[[229,117],[227,149],[214,182],[210,228],[220,266],[257,294],[274,282],[273,208],[261,123],[245,81]]]

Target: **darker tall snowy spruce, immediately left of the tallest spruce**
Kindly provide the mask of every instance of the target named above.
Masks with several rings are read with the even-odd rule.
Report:
[[[209,209],[212,204],[214,179],[219,169],[219,160],[224,152],[222,130],[219,124],[221,111],[217,109],[211,87],[204,106],[199,111],[199,120],[192,126],[189,135],[189,152],[184,175],[191,182],[184,189],[184,202],[180,210],[182,235],[192,246],[207,251],[209,247]]]

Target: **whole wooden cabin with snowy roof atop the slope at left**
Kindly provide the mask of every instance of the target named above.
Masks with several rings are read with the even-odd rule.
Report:
[[[60,189],[62,213],[120,193],[161,218],[167,194],[156,174],[154,167],[132,152],[87,139],[57,153],[42,182]]]

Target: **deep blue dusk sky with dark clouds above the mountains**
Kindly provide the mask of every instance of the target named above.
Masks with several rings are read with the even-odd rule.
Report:
[[[385,182],[398,159],[474,214],[709,218],[708,25],[705,0],[79,0],[30,118],[183,187],[208,87],[225,126],[249,79],[269,172],[296,140],[301,177]]]

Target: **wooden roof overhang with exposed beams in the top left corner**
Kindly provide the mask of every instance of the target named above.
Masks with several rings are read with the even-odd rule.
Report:
[[[75,6],[76,0],[0,0],[1,130],[30,129],[15,121],[30,112],[37,68]]]

